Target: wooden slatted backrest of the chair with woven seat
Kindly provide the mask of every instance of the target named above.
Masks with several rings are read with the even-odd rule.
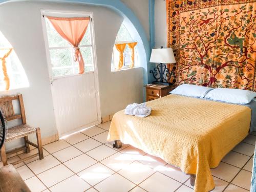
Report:
[[[20,114],[14,113],[13,103],[12,103],[13,100],[18,100],[19,107],[20,107]],[[21,118],[22,123],[26,124],[25,108],[24,108],[22,94],[0,97],[0,106],[6,115],[7,121]]]

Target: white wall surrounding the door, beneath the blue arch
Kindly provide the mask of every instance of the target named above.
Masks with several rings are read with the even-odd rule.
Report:
[[[116,12],[84,4],[40,1],[11,2],[0,5],[0,30],[14,47],[29,87],[0,92],[0,96],[23,94],[27,123],[41,128],[42,137],[57,133],[40,9],[86,11],[94,13],[96,54],[99,74],[101,115],[109,115],[127,104],[143,101],[142,68],[111,72],[111,56],[123,18]],[[16,143],[7,143],[7,148]]]

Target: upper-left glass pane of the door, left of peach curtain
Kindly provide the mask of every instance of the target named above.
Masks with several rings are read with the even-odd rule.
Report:
[[[64,40],[58,32],[53,28],[50,21],[46,18],[46,28],[49,47],[69,47],[70,44]]]

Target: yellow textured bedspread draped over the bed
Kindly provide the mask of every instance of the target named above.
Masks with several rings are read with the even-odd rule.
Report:
[[[147,102],[146,118],[117,112],[108,141],[121,140],[196,174],[195,191],[215,187],[210,168],[248,134],[251,110],[247,106],[179,95]]]

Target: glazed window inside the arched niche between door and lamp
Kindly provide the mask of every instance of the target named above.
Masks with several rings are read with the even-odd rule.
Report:
[[[129,44],[131,42],[135,42],[126,27],[122,24],[115,40],[115,44]],[[136,48],[134,49],[134,66],[137,66],[138,58]],[[116,46],[113,48],[112,54],[112,71],[120,70],[118,69],[119,63],[119,51],[116,49]],[[129,68],[132,63],[132,49],[129,48],[128,45],[125,46],[123,51],[123,67],[121,69]]]

